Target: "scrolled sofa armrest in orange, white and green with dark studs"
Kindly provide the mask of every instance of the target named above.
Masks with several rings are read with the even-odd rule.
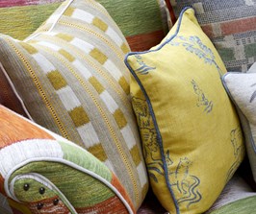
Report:
[[[3,106],[0,130],[0,210],[135,213],[114,173],[86,150]]]

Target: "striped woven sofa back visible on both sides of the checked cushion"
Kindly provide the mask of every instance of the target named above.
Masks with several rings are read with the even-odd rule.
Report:
[[[24,39],[64,0],[0,1],[0,33]],[[167,33],[164,0],[98,0],[114,18],[133,51],[158,44]],[[25,23],[25,24],[24,24]]]

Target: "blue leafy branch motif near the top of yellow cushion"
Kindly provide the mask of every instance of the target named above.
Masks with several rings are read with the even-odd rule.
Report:
[[[205,63],[216,66],[220,75],[223,74],[218,66],[218,63],[216,62],[216,57],[213,51],[204,45],[198,36],[175,36],[169,41],[169,44],[172,46],[182,45],[187,51],[195,54],[199,59],[204,59]]]

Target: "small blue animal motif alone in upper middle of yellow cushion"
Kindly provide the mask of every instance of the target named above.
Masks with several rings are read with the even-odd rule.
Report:
[[[203,91],[199,88],[198,84],[195,83],[194,80],[192,80],[192,87],[194,90],[194,93],[197,95],[197,107],[205,107],[204,111],[207,113],[210,113],[213,110],[213,102],[209,101]]]

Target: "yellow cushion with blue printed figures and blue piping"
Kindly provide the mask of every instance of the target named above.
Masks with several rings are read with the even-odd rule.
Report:
[[[125,61],[154,193],[170,213],[206,211],[244,155],[218,52],[186,8],[159,46]]]

